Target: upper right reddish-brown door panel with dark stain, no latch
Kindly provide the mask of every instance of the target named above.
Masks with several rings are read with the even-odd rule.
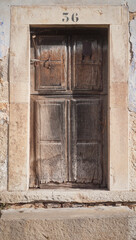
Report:
[[[73,90],[103,90],[102,41],[90,35],[73,37]]]

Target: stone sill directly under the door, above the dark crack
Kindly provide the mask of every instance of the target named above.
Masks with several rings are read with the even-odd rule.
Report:
[[[0,203],[136,203],[136,192],[88,189],[2,191]],[[112,204],[111,204],[112,205]]]

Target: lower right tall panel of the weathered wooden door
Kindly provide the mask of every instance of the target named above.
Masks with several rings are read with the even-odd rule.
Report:
[[[102,182],[102,108],[100,97],[71,101],[71,181]]]

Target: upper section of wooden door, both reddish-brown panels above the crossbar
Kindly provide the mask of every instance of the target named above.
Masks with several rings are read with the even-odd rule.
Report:
[[[107,94],[106,29],[41,32],[31,44],[32,94]]]

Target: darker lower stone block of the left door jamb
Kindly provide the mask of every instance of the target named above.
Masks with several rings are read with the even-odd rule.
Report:
[[[29,138],[27,103],[10,104],[9,190],[27,189]]]

